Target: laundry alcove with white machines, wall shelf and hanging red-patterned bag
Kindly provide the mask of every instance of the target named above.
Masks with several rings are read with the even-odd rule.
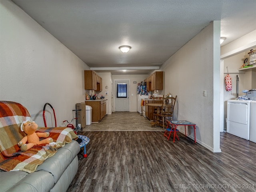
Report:
[[[256,47],[222,60],[224,132],[256,142]]]

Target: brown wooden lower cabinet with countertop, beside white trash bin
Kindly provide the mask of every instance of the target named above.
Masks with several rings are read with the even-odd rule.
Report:
[[[106,116],[106,100],[86,100],[92,107],[92,122],[100,122]]]

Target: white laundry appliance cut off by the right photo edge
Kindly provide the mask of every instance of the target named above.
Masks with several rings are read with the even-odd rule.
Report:
[[[250,103],[250,137],[249,140],[256,143],[256,101]]]

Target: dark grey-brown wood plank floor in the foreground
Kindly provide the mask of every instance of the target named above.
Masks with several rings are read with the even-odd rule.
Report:
[[[87,158],[68,192],[256,191],[256,143],[220,134],[212,153],[184,134],[173,143],[159,131],[88,131]]]

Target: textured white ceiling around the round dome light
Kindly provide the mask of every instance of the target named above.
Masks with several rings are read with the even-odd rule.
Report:
[[[13,2],[93,70],[112,74],[149,74],[213,20],[221,20],[222,45],[256,30],[256,0]]]

